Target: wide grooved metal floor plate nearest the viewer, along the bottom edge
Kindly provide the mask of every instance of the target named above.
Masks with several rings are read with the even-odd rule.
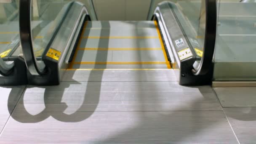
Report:
[[[71,116],[46,112],[31,119],[17,109],[0,141],[15,144],[237,144],[222,111],[76,112]]]

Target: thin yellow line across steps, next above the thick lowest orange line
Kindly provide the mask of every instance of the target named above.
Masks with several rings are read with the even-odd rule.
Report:
[[[162,48],[79,48],[81,51],[154,51]]]

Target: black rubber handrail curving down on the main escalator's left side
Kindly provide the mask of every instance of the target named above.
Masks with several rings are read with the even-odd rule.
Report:
[[[20,0],[19,8],[19,28],[21,37],[21,47],[26,62],[27,69],[32,75],[43,75],[45,65],[38,63],[33,51],[31,34],[31,0]]]

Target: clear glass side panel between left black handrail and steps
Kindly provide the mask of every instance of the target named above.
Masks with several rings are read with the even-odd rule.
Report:
[[[31,30],[34,54],[40,58],[53,38],[61,21],[67,16],[74,0],[32,0]],[[91,0],[77,0],[85,5],[91,19],[96,19]]]

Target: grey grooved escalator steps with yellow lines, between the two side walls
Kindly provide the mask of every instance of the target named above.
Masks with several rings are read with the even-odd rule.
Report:
[[[166,69],[155,21],[87,21],[70,69]]]

